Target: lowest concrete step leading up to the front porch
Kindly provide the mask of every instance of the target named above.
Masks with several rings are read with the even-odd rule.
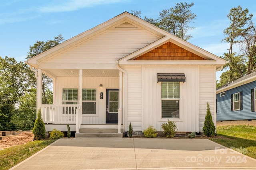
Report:
[[[123,137],[123,133],[76,133],[75,137]]]

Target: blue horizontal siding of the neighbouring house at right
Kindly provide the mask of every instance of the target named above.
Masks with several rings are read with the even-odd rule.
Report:
[[[251,89],[256,88],[256,81],[227,90],[225,96],[217,94],[217,121],[256,119],[256,112],[251,111]],[[243,92],[243,109],[231,111],[231,94]]]

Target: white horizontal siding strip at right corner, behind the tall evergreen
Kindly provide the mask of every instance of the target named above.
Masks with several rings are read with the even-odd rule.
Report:
[[[210,105],[212,120],[216,126],[216,70],[214,66],[200,66],[200,110],[199,131],[202,132],[207,110],[207,102]]]

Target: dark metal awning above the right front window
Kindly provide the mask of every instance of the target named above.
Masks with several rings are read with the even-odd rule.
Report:
[[[157,82],[186,82],[184,73],[157,73]]]

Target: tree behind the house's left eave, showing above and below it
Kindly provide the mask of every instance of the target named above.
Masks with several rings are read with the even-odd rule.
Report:
[[[28,52],[26,59],[35,57],[36,55],[39,55],[44,51],[47,51],[48,49],[51,49],[52,47],[59,45],[63,41],[64,41],[64,38],[62,37],[62,35],[58,35],[57,37],[54,37],[53,40],[48,40],[46,42],[36,41],[36,43],[33,46],[30,45],[30,49],[29,49],[30,52]],[[51,84],[52,84],[52,79],[42,74],[42,104],[50,104],[48,103],[49,96],[47,96],[46,91],[50,89]]]

